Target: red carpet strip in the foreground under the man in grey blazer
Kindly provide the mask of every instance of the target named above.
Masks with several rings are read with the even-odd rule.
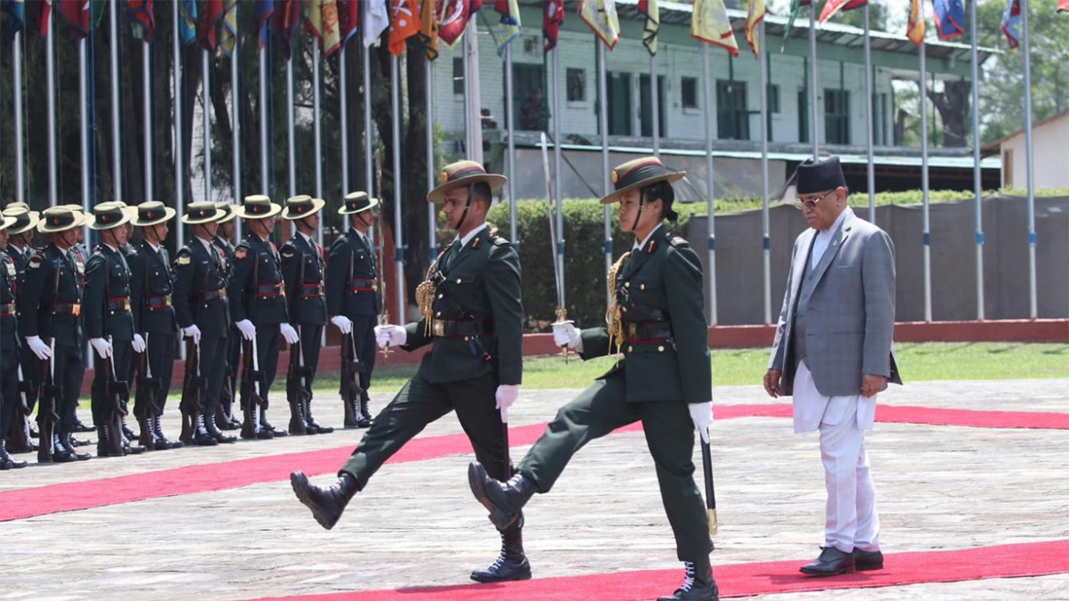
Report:
[[[536,573],[538,558],[534,561]],[[716,566],[713,573],[721,598],[749,597],[830,590],[869,588],[929,582],[960,582],[981,579],[1037,576],[1069,572],[1069,540],[979,546],[955,551],[892,553],[884,558],[884,569],[833,577],[814,577],[797,570],[808,559]],[[463,601],[477,599],[656,599],[670,594],[682,582],[682,568],[617,572],[588,576],[536,579],[503,584],[471,584],[434,588],[348,591],[274,599],[335,601],[353,599],[419,599],[420,601]]]

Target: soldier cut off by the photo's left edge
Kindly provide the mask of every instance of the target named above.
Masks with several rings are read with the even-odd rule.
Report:
[[[7,228],[14,217],[0,213],[0,469],[26,467],[25,461],[15,461],[7,454],[4,437],[15,425],[21,428],[22,417],[15,411],[18,399],[18,337],[15,336],[15,262],[7,256]],[[16,418],[18,419],[16,421]]]

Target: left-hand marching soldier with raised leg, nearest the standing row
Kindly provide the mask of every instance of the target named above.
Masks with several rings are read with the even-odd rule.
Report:
[[[372,475],[428,423],[456,412],[476,458],[499,477],[509,476],[502,423],[520,395],[523,373],[523,322],[520,258],[505,238],[486,229],[493,190],[505,176],[462,160],[441,172],[441,185],[427,195],[443,205],[447,226],[458,237],[431,265],[417,291],[423,319],[406,326],[375,327],[379,345],[407,351],[432,344],[419,370],[375,417],[360,445],[329,488],[290,475],[294,492],[325,528]],[[490,568],[476,570],[480,582],[526,580],[522,524],[502,528],[502,550]]]

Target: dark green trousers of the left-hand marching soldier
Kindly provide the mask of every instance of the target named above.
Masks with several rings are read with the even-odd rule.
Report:
[[[511,465],[508,469],[505,467],[508,449],[505,447],[501,415],[494,406],[497,383],[495,372],[444,384],[432,384],[421,373],[416,373],[375,416],[341,472],[356,478],[357,486],[362,490],[386,460],[428,423],[455,411],[456,419],[475,449],[476,460],[486,467],[491,476],[508,479],[512,469]]]

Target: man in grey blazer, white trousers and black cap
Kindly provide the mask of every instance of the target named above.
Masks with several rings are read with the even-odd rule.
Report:
[[[876,395],[901,384],[895,330],[895,245],[847,206],[838,157],[794,173],[810,229],[794,242],[764,389],[793,396],[794,431],[820,432],[827,488],[824,545],[802,572],[883,567],[876,490],[865,451]]]

